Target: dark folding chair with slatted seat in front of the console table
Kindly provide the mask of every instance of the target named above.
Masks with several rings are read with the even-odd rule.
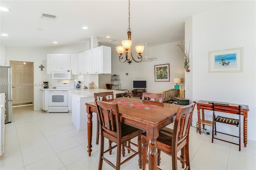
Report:
[[[213,116],[212,116],[212,120],[213,120],[212,121],[212,143],[213,143],[213,139],[222,140],[224,142],[228,142],[228,143],[238,145],[239,146],[239,151],[240,151],[241,150],[241,106],[240,105],[238,105],[238,106],[220,105],[220,104],[212,103],[212,110],[213,110]],[[228,118],[228,117],[223,117],[223,116],[217,116],[216,117],[215,111],[235,114],[235,115],[239,116],[239,119]],[[235,136],[235,135],[232,135],[232,134],[217,131],[216,130],[216,123],[224,123],[224,124],[233,125],[233,126],[238,127],[239,128],[239,135]],[[237,137],[237,138],[239,138],[239,142],[234,143],[234,142],[230,142],[228,140],[217,138],[216,137],[217,132],[221,133],[221,134],[226,134],[226,135],[229,135],[229,136]]]

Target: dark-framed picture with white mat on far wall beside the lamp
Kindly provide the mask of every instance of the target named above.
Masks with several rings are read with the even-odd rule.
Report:
[[[170,64],[155,65],[155,81],[170,81]]]

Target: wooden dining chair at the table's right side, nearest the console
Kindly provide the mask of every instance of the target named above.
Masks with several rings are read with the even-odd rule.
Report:
[[[166,154],[172,156],[172,170],[177,170],[177,159],[180,160],[183,164],[186,164],[186,169],[190,170],[188,139],[189,139],[190,123],[191,123],[195,104],[196,102],[194,101],[190,105],[178,108],[173,129],[164,127],[161,130],[159,130],[159,136],[156,139],[157,140],[156,147],[158,148],[158,156],[157,156],[158,166],[160,166],[160,160],[161,160],[160,152],[163,151]],[[149,139],[146,135],[146,132],[142,133],[141,136],[142,136],[142,169],[145,170],[146,163],[148,163],[147,147],[148,147]],[[181,150],[181,153],[182,153],[181,158],[177,156],[177,153],[179,152],[179,150]]]

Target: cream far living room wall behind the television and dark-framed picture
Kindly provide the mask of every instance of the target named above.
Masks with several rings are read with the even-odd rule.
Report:
[[[184,55],[180,48],[175,48],[176,45],[182,45],[183,41],[168,43],[155,47],[147,46],[147,56],[156,57],[154,61],[143,60],[140,63],[132,61],[129,65],[127,62],[121,63],[118,59],[119,54],[116,48],[112,47],[112,74],[120,75],[121,88],[128,89],[130,92],[133,89],[133,80],[146,80],[148,93],[162,92],[168,89],[174,89],[173,78],[180,77],[180,90],[183,96],[184,90]],[[133,51],[134,57],[137,57],[136,52]],[[142,53],[145,56],[145,51]],[[170,81],[155,82],[154,81],[154,65],[170,64]],[[128,73],[128,75],[126,75]],[[108,82],[109,83],[109,82]]]

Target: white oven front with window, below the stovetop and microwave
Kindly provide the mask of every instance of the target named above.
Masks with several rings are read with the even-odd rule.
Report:
[[[48,112],[68,112],[68,90],[48,90]]]

